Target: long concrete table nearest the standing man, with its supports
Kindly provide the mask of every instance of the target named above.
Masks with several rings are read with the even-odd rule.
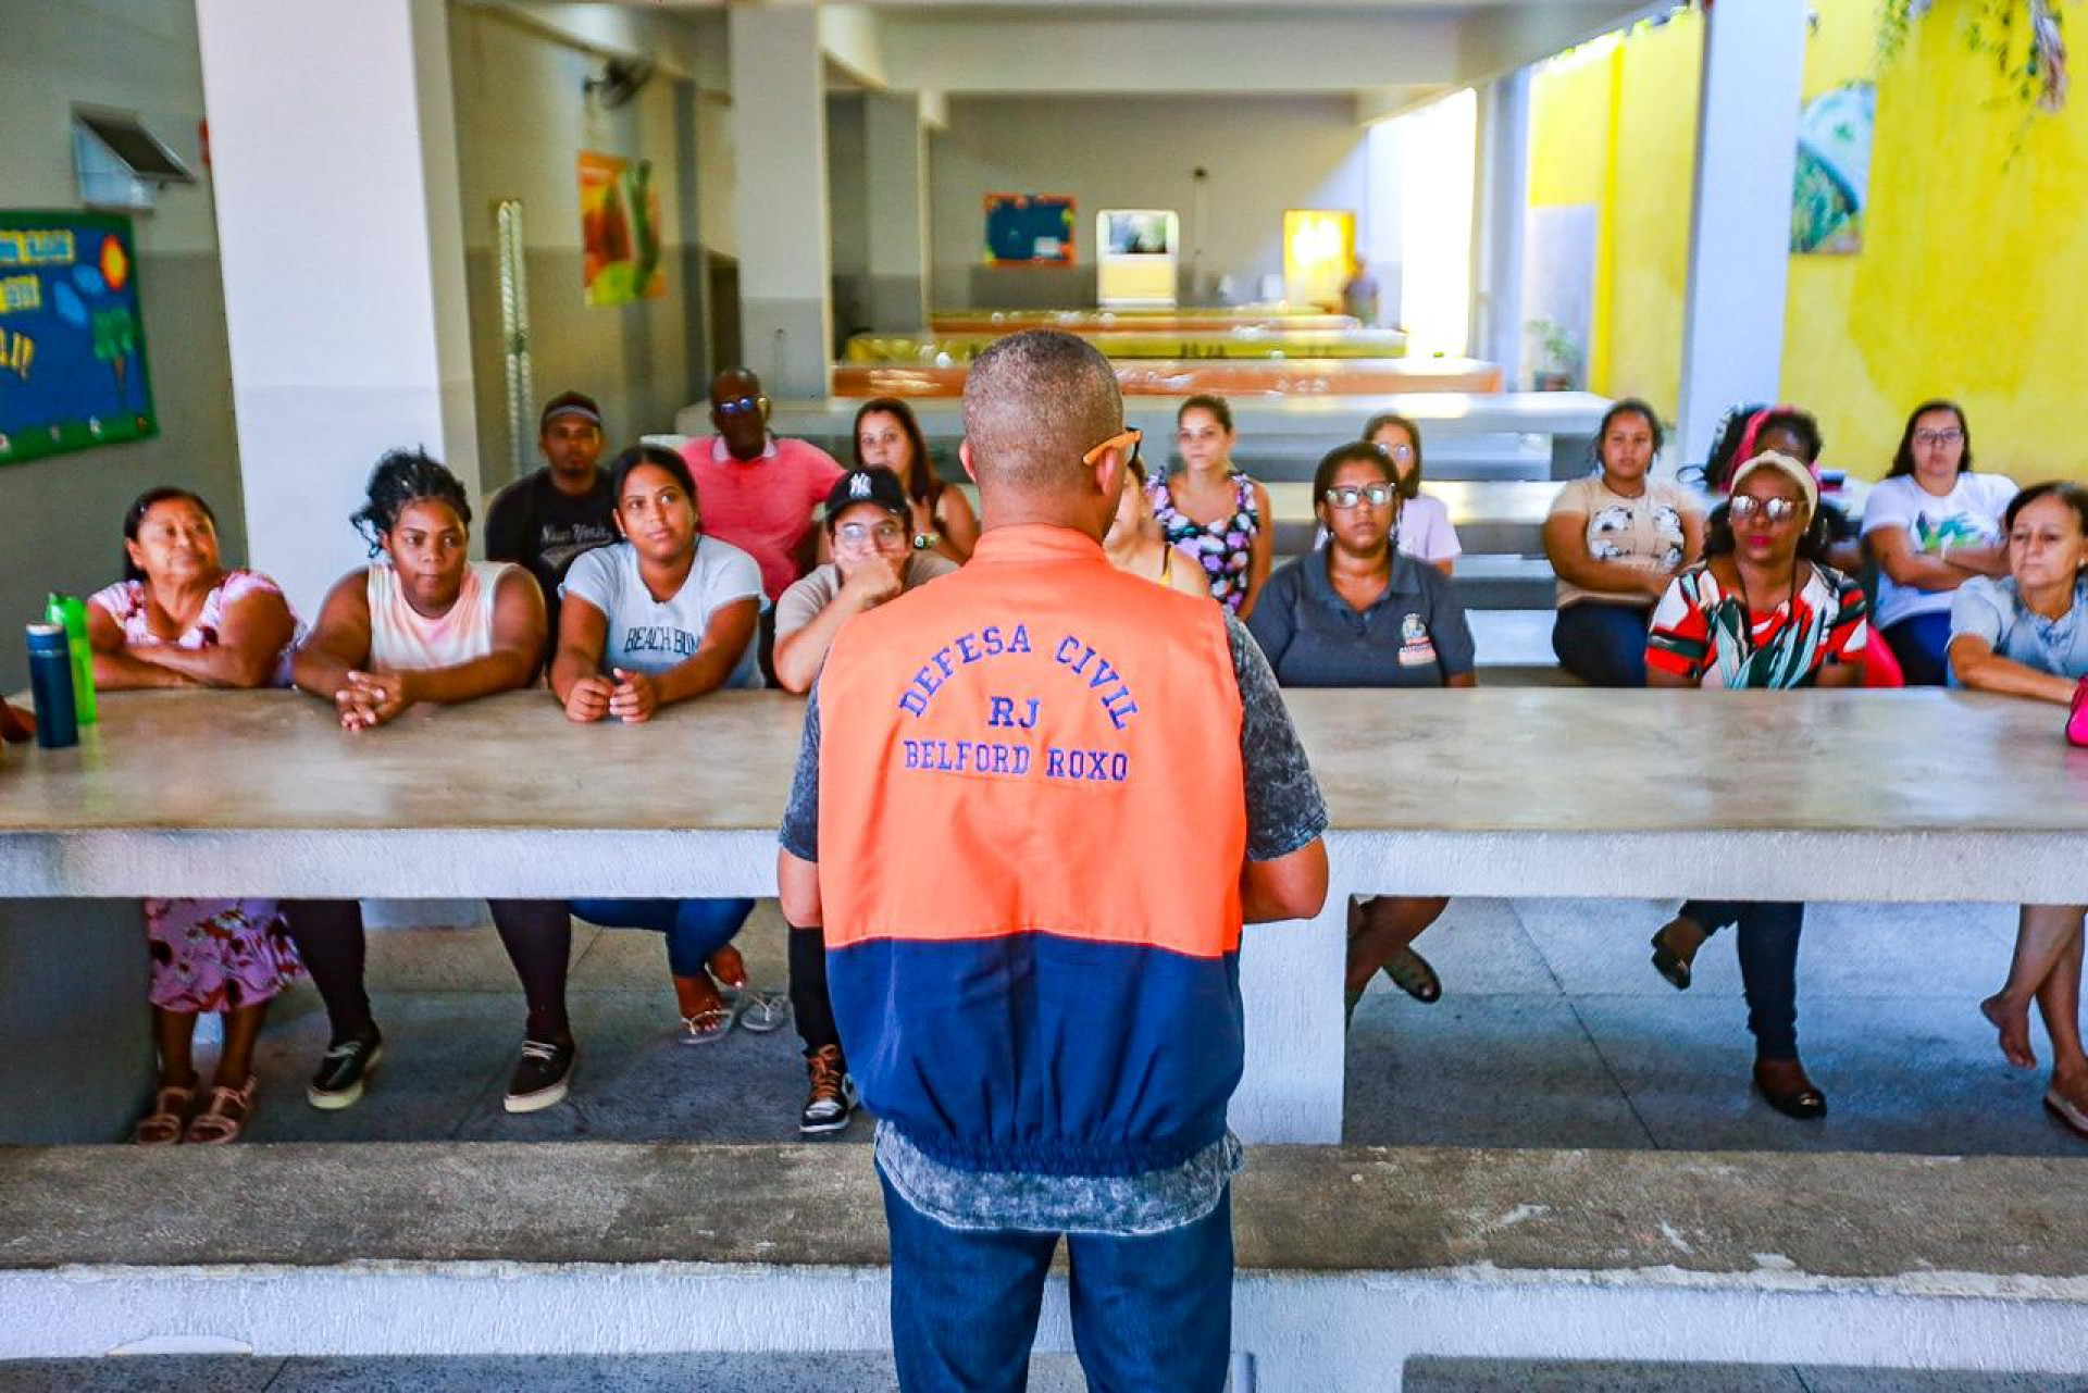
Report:
[[[2088,900],[2088,752],[2038,704],[1288,700],[1334,819],[1334,888],[1311,925],[1247,934],[1234,1126],[1249,1140],[1340,1136],[1349,894]],[[73,1088],[58,1119],[27,1126],[50,1094],[42,1071],[0,1076],[0,1117],[17,1119],[0,1140],[109,1136],[142,1096],[144,954],[123,900],[768,896],[802,723],[783,693],[720,693],[647,727],[576,727],[545,693],[512,693],[355,735],[296,693],[134,693],[102,710],[77,750],[0,762],[0,971],[17,1007],[0,1050]]]

